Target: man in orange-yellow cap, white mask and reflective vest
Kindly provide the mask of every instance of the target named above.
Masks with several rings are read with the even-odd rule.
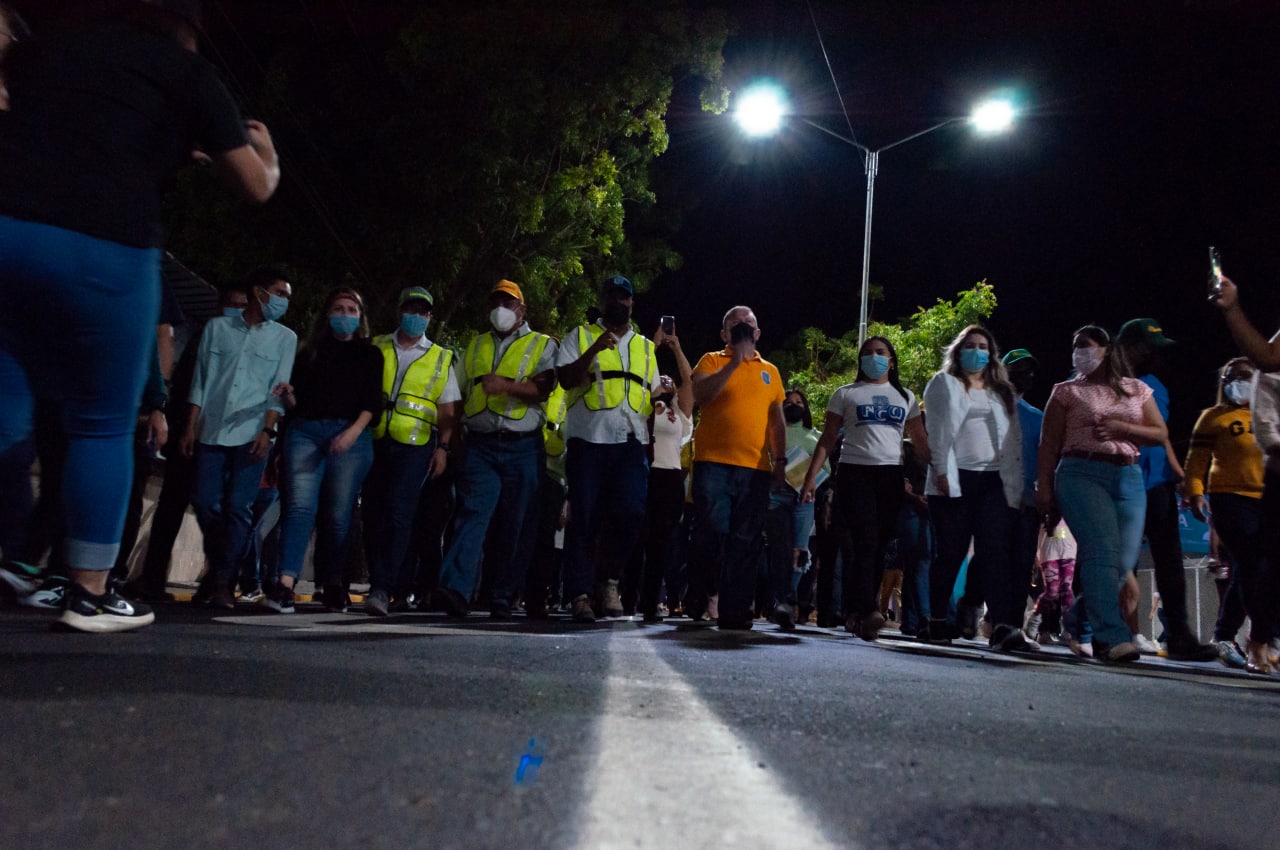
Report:
[[[436,593],[445,613],[465,617],[484,561],[493,570],[489,614],[507,620],[529,568],[524,530],[536,517],[541,405],[556,383],[558,347],[529,328],[520,284],[499,280],[489,293],[489,307],[490,329],[471,341],[460,369],[465,437],[458,507]]]

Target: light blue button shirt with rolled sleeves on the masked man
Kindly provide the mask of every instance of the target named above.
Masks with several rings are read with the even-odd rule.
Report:
[[[289,380],[297,347],[297,335],[275,321],[250,326],[239,316],[210,319],[187,397],[201,408],[198,440],[244,445],[266,425],[266,411],[283,413],[271,388]]]

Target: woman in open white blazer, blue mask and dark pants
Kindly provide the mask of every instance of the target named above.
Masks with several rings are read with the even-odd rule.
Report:
[[[924,493],[938,549],[929,571],[933,620],[927,640],[973,638],[984,599],[991,646],[1028,649],[1021,622],[1027,576],[1012,558],[1014,515],[1021,504],[1023,444],[1018,401],[991,332],[969,325],[947,348],[942,370],[924,388],[929,476]],[[973,541],[959,625],[946,617],[960,565]]]

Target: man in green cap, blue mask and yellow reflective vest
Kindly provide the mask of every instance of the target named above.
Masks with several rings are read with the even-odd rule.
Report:
[[[404,559],[413,536],[413,516],[429,477],[448,465],[462,393],[453,352],[426,338],[434,300],[422,287],[399,297],[399,328],[374,339],[383,352],[384,410],[372,425],[374,466],[365,479],[361,515],[369,597],[375,617],[408,608],[413,576]]]

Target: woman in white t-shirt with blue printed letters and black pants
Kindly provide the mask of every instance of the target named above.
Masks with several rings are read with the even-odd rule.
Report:
[[[841,581],[845,629],[863,640],[876,640],[884,625],[877,598],[884,547],[893,536],[906,492],[902,431],[916,445],[925,445],[927,437],[915,394],[897,378],[893,344],[870,337],[858,353],[858,380],[837,389],[827,403],[827,421],[800,493],[805,502],[813,502],[818,471],[844,431],[836,503],[852,539]]]

